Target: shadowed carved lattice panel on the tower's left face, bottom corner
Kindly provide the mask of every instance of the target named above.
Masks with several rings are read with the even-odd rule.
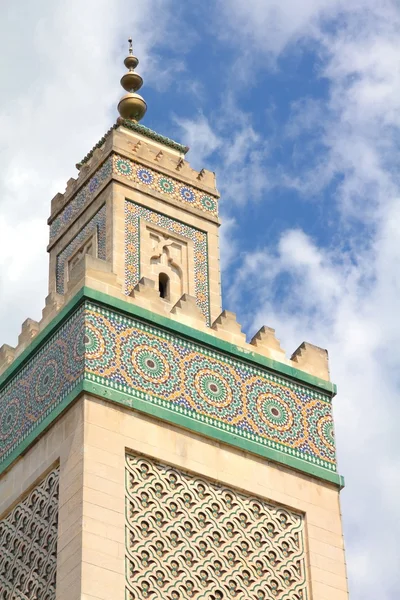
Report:
[[[2,600],[55,600],[58,467],[0,521]]]

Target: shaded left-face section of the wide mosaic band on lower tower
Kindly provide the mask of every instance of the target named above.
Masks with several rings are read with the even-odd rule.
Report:
[[[0,463],[83,379],[84,309],[78,309],[0,392]]]

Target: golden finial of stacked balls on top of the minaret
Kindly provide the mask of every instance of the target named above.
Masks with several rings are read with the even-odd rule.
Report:
[[[140,121],[146,113],[147,104],[142,96],[136,93],[142,87],[143,79],[134,72],[139,64],[139,60],[133,55],[132,38],[129,38],[128,42],[129,54],[124,60],[128,72],[121,78],[121,85],[128,93],[119,101],[118,112],[123,119]]]

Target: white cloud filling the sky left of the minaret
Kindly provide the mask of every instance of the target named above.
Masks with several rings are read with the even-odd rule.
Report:
[[[156,75],[153,52],[157,43],[173,42],[170,16],[168,0],[138,0],[134,10],[128,0],[41,0],[3,8],[0,345],[15,345],[21,323],[41,316],[50,201],[117,117],[130,35],[146,82],[171,83]]]

